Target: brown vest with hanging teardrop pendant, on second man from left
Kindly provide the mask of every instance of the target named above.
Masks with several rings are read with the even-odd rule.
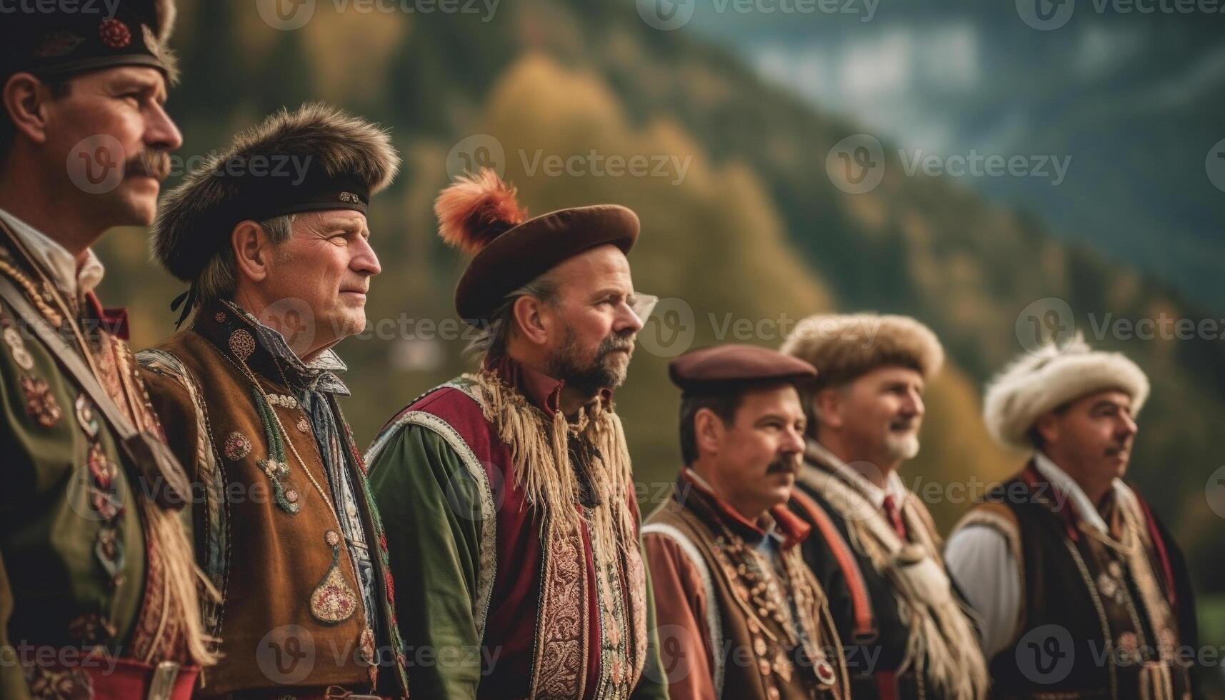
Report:
[[[256,375],[267,397],[256,398],[261,392],[239,362],[254,346],[250,330],[232,311],[207,313],[213,318],[197,319],[192,330],[140,353],[154,405],[180,419],[168,427],[168,436],[197,489],[197,559],[223,596],[205,611],[221,639],[222,661],[197,695],[328,685],[360,690],[375,683],[385,693],[405,694],[386,565],[372,557],[382,603],[376,639],[349,554],[353,544],[333,512],[305,412],[279,379]],[[361,466],[352,435],[343,439],[352,463]],[[345,467],[352,468],[349,461]],[[350,477],[365,546],[379,547],[365,474]]]

